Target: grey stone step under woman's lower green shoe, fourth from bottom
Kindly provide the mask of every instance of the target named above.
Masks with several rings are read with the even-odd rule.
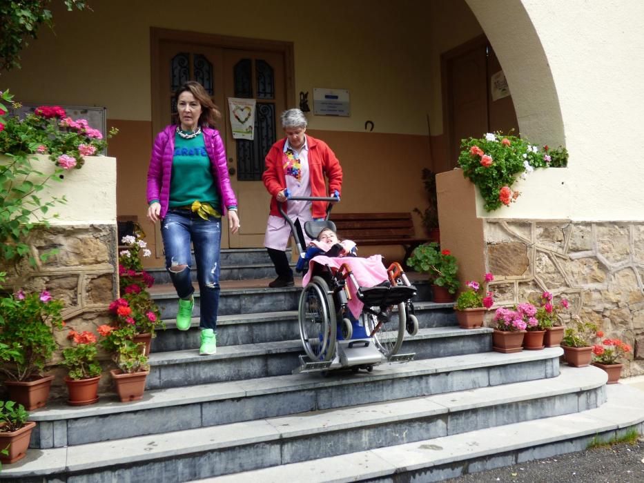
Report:
[[[492,332],[491,328],[424,328],[413,337],[405,335],[400,353],[416,353],[416,359],[483,353],[491,351]],[[223,346],[217,348],[215,355],[199,355],[196,349],[152,353],[152,370],[146,388],[194,386],[290,374],[300,366],[300,354],[304,351],[299,338]]]

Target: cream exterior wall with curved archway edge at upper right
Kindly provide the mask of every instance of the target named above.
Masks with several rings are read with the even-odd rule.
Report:
[[[644,3],[467,3],[504,68],[522,134],[550,146],[565,135],[570,153],[566,170],[523,184],[532,201],[479,215],[643,219]]]

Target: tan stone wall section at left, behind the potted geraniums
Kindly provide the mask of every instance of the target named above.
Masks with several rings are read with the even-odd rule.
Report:
[[[66,328],[54,331],[59,346],[66,347],[70,328],[76,331],[92,331],[101,324],[110,322],[108,306],[118,295],[117,280],[117,227],[110,224],[86,224],[79,226],[58,225],[32,233],[29,241],[31,254],[36,259],[35,268],[23,261],[8,273],[17,273],[8,279],[5,290],[26,292],[48,290],[52,297],[64,302],[63,319]],[[39,255],[48,250],[57,250],[45,261]],[[104,369],[111,364],[106,355]],[[52,364],[61,360],[60,351],[55,353]],[[52,398],[67,394],[63,378],[66,368],[52,366],[49,373],[56,375],[52,384]],[[105,373],[104,373],[105,374]],[[110,377],[101,379],[99,391],[108,391]]]

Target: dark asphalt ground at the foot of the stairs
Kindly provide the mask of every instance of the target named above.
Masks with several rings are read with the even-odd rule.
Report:
[[[643,483],[644,439],[473,473],[444,483]]]

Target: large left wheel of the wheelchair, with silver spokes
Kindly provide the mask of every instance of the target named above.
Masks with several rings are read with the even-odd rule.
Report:
[[[313,361],[335,357],[335,306],[329,285],[313,277],[300,295],[300,339],[306,355]]]

